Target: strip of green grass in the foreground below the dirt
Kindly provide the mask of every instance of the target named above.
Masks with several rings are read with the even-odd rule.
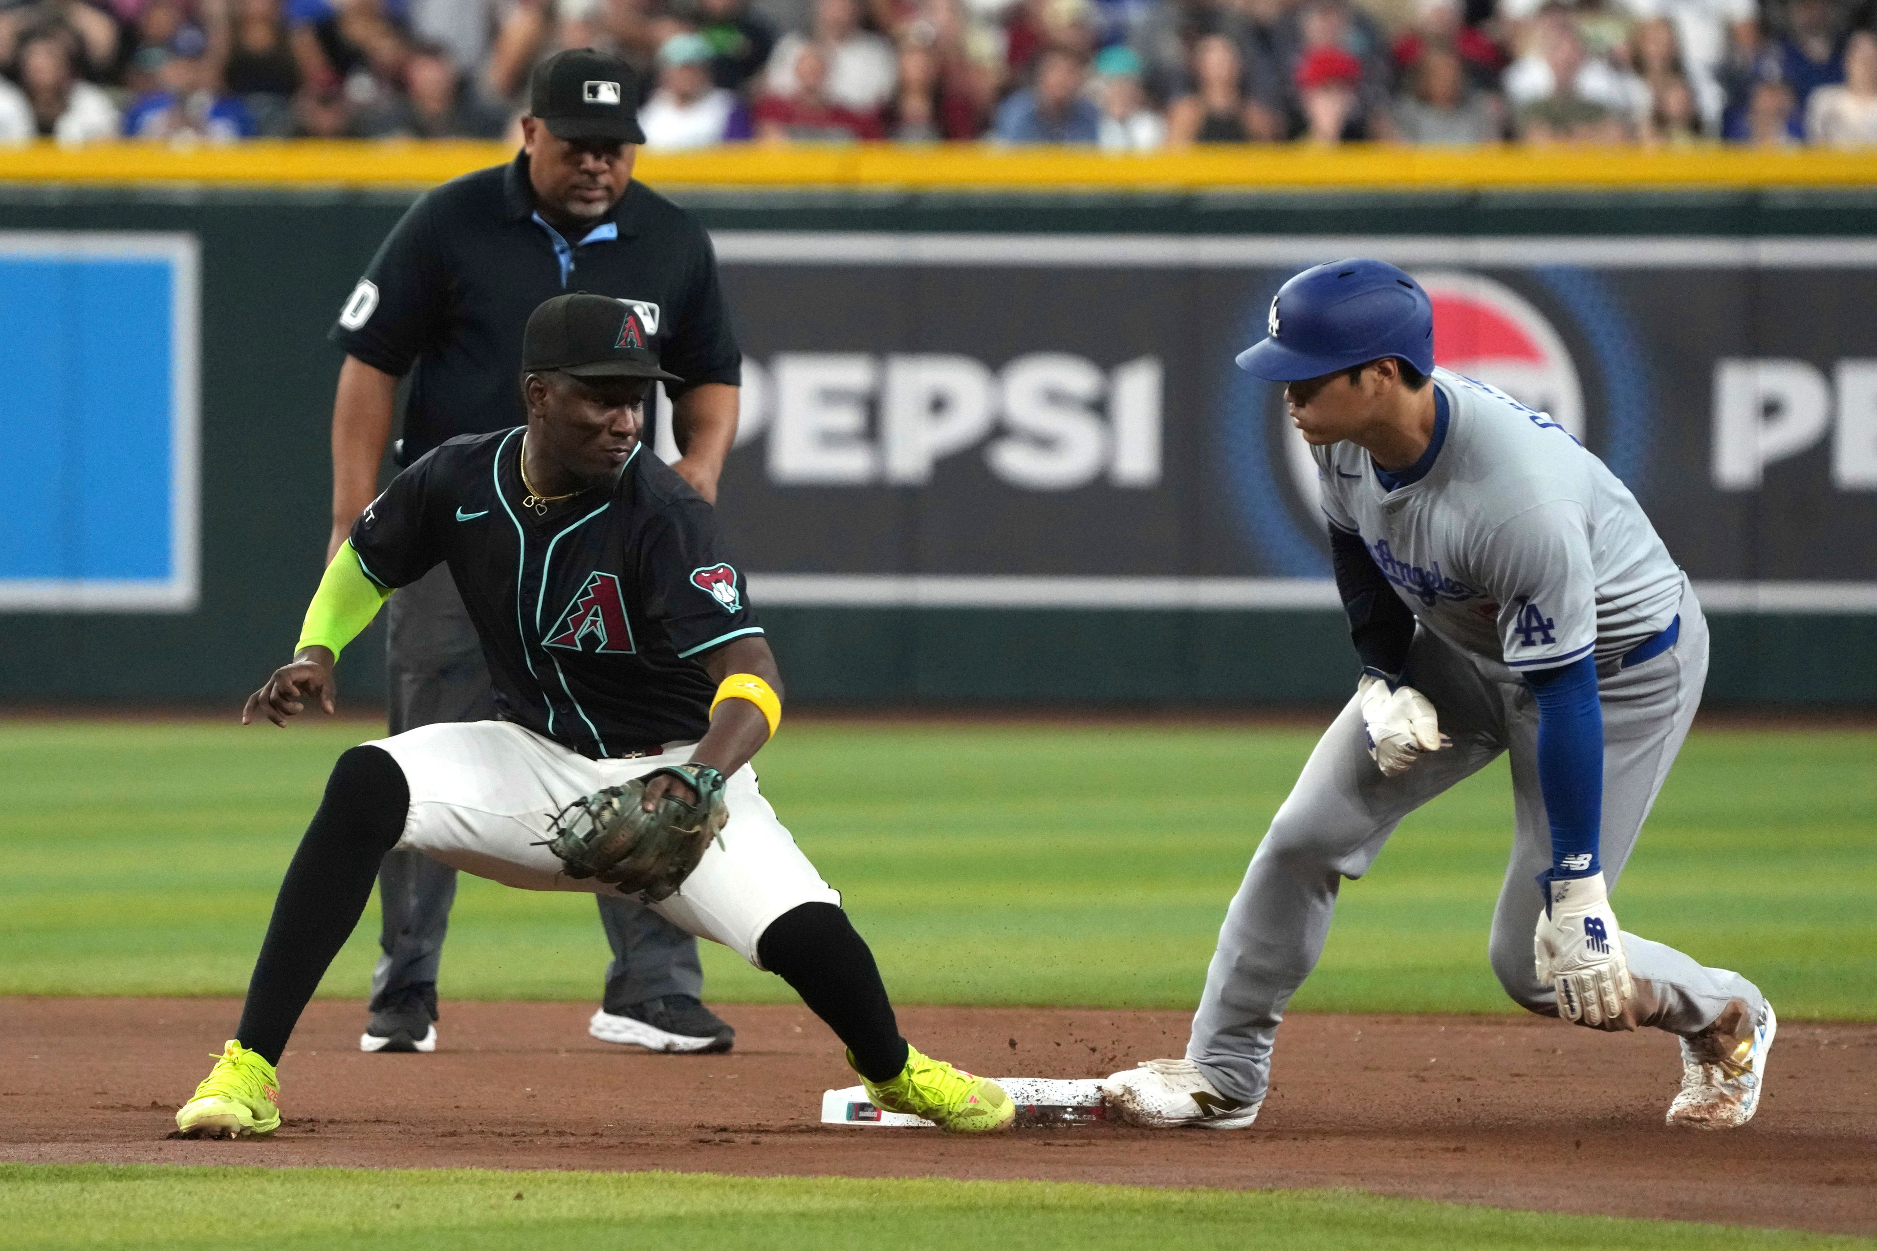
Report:
[[[1348,1191],[479,1168],[0,1165],[8,1247],[1871,1247],[1862,1238],[1462,1208]],[[394,1230],[394,1232],[392,1232]]]

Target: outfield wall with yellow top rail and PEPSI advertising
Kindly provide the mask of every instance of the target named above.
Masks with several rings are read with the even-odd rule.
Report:
[[[0,154],[0,700],[231,700],[278,662],[327,533],[325,330],[415,189],[494,159]],[[1434,293],[1443,364],[1650,508],[1712,608],[1710,700],[1877,700],[1869,158],[642,174],[717,238],[751,362],[721,508],[796,698],[1336,698],[1314,480],[1229,360],[1288,272],[1376,253]]]

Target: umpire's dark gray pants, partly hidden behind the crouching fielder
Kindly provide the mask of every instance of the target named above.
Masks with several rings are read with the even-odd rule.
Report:
[[[437,566],[387,604],[390,731],[450,720],[494,720],[488,662],[449,568]],[[456,870],[420,852],[390,852],[377,870],[383,928],[372,1009],[435,983],[456,900]],[[618,1013],[666,994],[702,996],[698,940],[625,897],[595,895],[612,945],[603,1005]]]

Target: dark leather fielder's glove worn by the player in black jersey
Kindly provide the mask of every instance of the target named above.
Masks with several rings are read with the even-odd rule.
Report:
[[[646,812],[646,784],[663,773],[694,790],[696,803],[664,791]],[[666,765],[574,799],[548,816],[552,837],[535,846],[561,857],[569,878],[599,878],[621,895],[655,904],[683,885],[728,820],[721,773],[710,765]]]

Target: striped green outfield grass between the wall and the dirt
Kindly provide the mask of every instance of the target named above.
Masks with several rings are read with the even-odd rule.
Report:
[[[0,994],[238,994],[332,758],[370,728],[0,724]],[[1314,733],[796,722],[764,790],[907,1003],[1190,1007]],[[1787,1018],[1877,1017],[1877,733],[1689,739],[1618,893],[1625,928],[1749,972]],[[1509,1011],[1487,960],[1503,761],[1342,895],[1308,1009]],[[375,908],[323,992],[366,992]],[[454,998],[589,998],[586,895],[464,878]],[[706,945],[719,1002],[790,1000]]]

